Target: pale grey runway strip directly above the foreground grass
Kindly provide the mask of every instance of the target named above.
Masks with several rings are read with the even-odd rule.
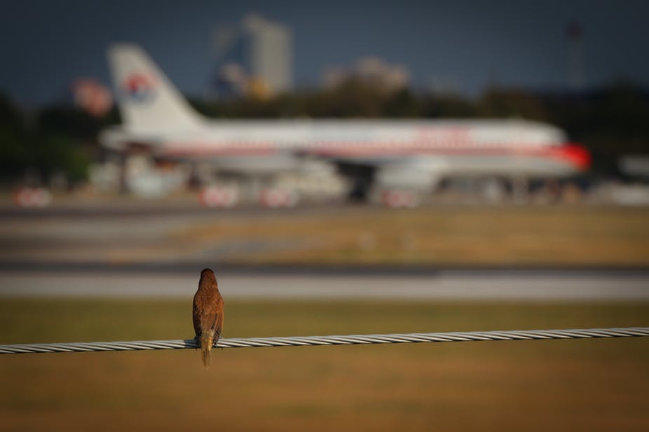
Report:
[[[97,270],[97,269],[95,269]],[[217,272],[225,298],[647,301],[646,270],[430,270]],[[0,271],[0,296],[187,298],[198,272]]]

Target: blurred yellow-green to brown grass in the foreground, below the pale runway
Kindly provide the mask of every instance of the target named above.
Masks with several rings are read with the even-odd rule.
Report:
[[[0,300],[0,343],[191,337],[190,301]],[[649,326],[649,303],[226,303],[225,337]],[[0,356],[2,431],[647,431],[649,338]]]

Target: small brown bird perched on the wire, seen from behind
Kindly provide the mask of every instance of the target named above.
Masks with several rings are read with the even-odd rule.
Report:
[[[192,315],[196,340],[200,343],[203,365],[207,369],[210,367],[210,351],[219,341],[223,328],[223,298],[219,293],[217,277],[208,268],[200,272]]]

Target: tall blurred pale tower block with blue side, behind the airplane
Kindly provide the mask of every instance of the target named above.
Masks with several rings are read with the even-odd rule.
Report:
[[[236,27],[221,27],[215,45],[219,96],[268,97],[292,90],[293,36],[287,26],[250,13]]]

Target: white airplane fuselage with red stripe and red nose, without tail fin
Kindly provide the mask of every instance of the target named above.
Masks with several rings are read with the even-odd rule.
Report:
[[[309,155],[434,166],[440,175],[566,176],[589,164],[587,151],[561,130],[525,120],[222,120],[161,134],[116,128],[102,141],[116,150],[146,143],[159,158],[207,158],[244,172],[290,169]]]

